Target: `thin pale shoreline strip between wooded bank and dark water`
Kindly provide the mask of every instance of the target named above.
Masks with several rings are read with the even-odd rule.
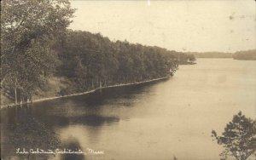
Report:
[[[77,93],[77,94],[68,94],[68,95],[60,95],[60,96],[54,96],[54,97],[49,97],[49,98],[42,98],[42,99],[32,100],[32,102],[25,102],[25,103],[22,103],[22,104],[12,103],[12,104],[9,104],[9,105],[1,106],[1,109],[7,108],[7,107],[13,107],[13,106],[20,106],[20,105],[37,103],[37,102],[42,102],[42,101],[46,101],[46,100],[56,100],[56,99],[61,99],[61,98],[73,97],[73,96],[77,96],[77,95],[91,94],[91,93],[96,92],[99,89],[110,89],[110,88],[118,88],[118,87],[124,87],[124,86],[131,86],[131,85],[136,85],[136,84],[151,83],[151,82],[167,79],[169,77],[171,77],[171,76],[154,78],[154,79],[151,79],[151,80],[142,81],[142,82],[138,82],[138,83],[123,83],[123,84],[121,83],[121,84],[116,84],[116,85],[110,85],[110,86],[105,86],[105,87],[102,87],[102,88],[96,88],[96,89],[92,89],[92,90],[89,90],[89,91],[86,91],[86,92]]]

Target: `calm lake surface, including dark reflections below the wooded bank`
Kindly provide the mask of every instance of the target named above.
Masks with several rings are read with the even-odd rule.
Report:
[[[158,83],[5,109],[3,157],[19,159],[15,147],[59,142],[104,154],[47,158],[219,159],[222,147],[212,141],[212,129],[222,132],[238,111],[256,118],[256,61],[197,63],[179,66],[174,77]]]

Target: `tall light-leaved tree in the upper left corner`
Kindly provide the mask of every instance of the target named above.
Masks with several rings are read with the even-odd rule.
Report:
[[[1,87],[31,94],[51,70],[51,40],[66,31],[74,9],[67,0],[1,1]],[[27,85],[29,84],[29,86]]]

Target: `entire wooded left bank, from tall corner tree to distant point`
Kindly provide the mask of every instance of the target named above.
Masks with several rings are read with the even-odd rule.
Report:
[[[193,54],[67,30],[75,11],[67,0],[1,6],[1,94],[16,104],[168,77],[195,61]]]

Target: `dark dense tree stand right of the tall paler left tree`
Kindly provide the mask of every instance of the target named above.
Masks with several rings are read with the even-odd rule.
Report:
[[[111,42],[87,31],[67,31],[54,50],[61,60],[59,76],[73,79],[84,90],[166,77],[177,70],[177,57],[166,49]]]

